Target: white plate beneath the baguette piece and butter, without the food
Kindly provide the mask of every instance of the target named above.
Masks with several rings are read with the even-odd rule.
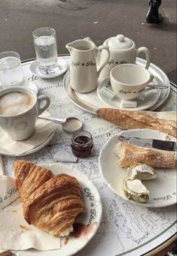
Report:
[[[164,140],[165,134],[160,131],[152,131],[148,129],[135,129],[121,131],[120,134],[134,137],[146,137]],[[175,141],[174,137],[170,137]],[[101,175],[106,180],[110,188],[124,200],[128,200],[122,190],[122,180],[126,173],[126,168],[118,167],[116,162],[117,156],[114,152],[115,144],[118,143],[117,135],[113,136],[101,149],[99,155],[99,168]],[[175,155],[176,156],[176,155]],[[133,200],[128,200],[132,203],[140,204],[147,207],[163,207],[170,206],[176,203],[176,170],[157,168],[157,178],[151,181],[143,181],[143,184],[150,191],[148,203],[136,203]]]

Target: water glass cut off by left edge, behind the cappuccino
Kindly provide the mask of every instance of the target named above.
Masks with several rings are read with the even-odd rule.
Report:
[[[18,53],[11,51],[0,53],[0,80],[3,88],[25,85]]]

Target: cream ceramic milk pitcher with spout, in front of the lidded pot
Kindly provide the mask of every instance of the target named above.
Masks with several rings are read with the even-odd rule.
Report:
[[[90,38],[84,38],[67,44],[66,48],[71,54],[71,88],[77,92],[91,92],[96,89],[98,77],[110,59],[109,47],[96,47]]]

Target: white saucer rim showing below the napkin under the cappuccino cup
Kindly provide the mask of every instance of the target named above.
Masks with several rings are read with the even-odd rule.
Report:
[[[41,143],[40,145],[38,145],[37,147],[35,147],[34,149],[28,150],[27,152],[20,154],[20,155],[13,155],[10,152],[7,152],[5,149],[2,149],[0,147],[0,155],[7,155],[7,156],[23,156],[23,155],[30,155],[34,152],[37,152],[38,150],[42,149],[44,146],[46,146],[50,140],[52,140],[52,137],[54,136],[55,131],[52,132],[52,134],[49,135],[49,137],[43,141],[43,143]]]

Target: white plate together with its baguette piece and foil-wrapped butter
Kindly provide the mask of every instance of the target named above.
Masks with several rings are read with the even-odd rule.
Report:
[[[133,129],[118,135],[176,141],[162,131]],[[115,135],[101,149],[99,169],[110,188],[124,200],[147,207],[176,203],[176,152],[122,142]]]

